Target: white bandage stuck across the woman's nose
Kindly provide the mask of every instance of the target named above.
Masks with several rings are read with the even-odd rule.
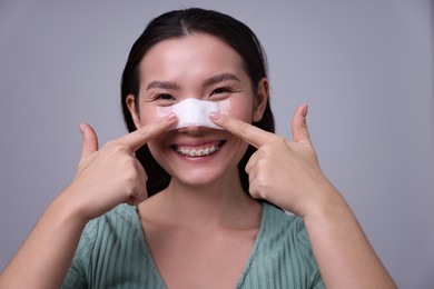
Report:
[[[178,122],[171,129],[186,127],[207,127],[213,129],[221,129],[209,120],[209,112],[219,112],[227,114],[230,110],[230,101],[208,101],[188,98],[174,106],[157,107],[157,116],[162,118],[170,112],[175,112]]]

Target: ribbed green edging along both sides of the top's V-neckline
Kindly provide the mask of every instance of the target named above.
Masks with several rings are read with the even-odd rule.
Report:
[[[247,275],[248,275],[248,271],[250,269],[250,265],[253,262],[253,260],[255,259],[256,257],[256,251],[258,249],[258,246],[260,243],[260,240],[263,238],[263,235],[264,235],[264,230],[265,230],[265,219],[266,219],[266,215],[267,215],[267,206],[266,206],[266,202],[262,202],[262,216],[260,216],[260,225],[259,225],[259,230],[258,230],[258,233],[256,235],[256,238],[255,238],[255,242],[251,247],[251,250],[250,250],[250,253],[249,253],[249,257],[247,259],[247,262],[246,265],[244,266],[244,269],[241,271],[241,275],[238,277],[238,281],[237,281],[237,285],[235,288],[240,288],[244,283],[244,280],[246,279]],[[141,241],[141,247],[142,249],[145,250],[145,253],[147,255],[147,257],[149,258],[149,263],[152,266],[152,269],[154,269],[154,275],[156,276],[156,278],[158,279],[158,281],[160,283],[162,283],[165,286],[165,288],[167,288],[167,285],[162,278],[162,276],[160,275],[159,270],[158,270],[158,267],[157,267],[157,262],[155,261],[154,259],[154,256],[152,256],[152,252],[150,251],[150,248],[149,248],[149,245],[148,242],[146,241],[146,235],[145,235],[145,230],[142,229],[141,227],[141,222],[140,222],[140,217],[138,215],[138,209],[136,207],[136,218],[135,218],[135,221],[136,221],[136,225],[138,226],[138,230],[141,231],[141,233],[139,235],[140,237],[140,241]]]

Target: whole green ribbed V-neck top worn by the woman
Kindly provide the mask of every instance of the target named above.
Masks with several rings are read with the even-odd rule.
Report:
[[[134,207],[120,205],[87,225],[62,288],[166,288]],[[302,218],[263,203],[236,288],[324,288]]]

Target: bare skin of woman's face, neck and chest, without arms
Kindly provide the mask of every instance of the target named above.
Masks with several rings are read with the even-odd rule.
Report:
[[[127,103],[138,128],[158,118],[157,107],[191,97],[229,100],[228,114],[251,122],[262,118],[267,86],[264,79],[254,93],[235,50],[215,37],[193,34],[162,41],[145,56],[139,108],[134,96]],[[184,157],[172,149],[174,144],[204,148],[223,141],[225,144],[206,158]],[[148,146],[171,176],[166,190],[139,206],[142,229],[165,282],[169,288],[234,288],[262,213],[239,181],[237,163],[247,143],[225,130],[189,127],[170,130]]]

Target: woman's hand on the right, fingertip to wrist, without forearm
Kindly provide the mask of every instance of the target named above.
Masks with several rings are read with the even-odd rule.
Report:
[[[217,116],[217,119],[211,116],[215,123],[257,148],[246,166],[251,197],[298,216],[313,210],[324,199],[325,191],[334,190],[319,168],[306,114],[307,106],[295,111],[294,141],[228,116]]]

